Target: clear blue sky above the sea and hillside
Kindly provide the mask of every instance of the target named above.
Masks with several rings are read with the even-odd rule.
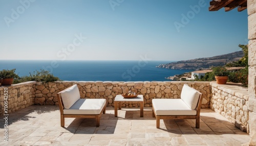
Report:
[[[247,10],[210,1],[0,0],[1,60],[187,60],[240,51]]]

